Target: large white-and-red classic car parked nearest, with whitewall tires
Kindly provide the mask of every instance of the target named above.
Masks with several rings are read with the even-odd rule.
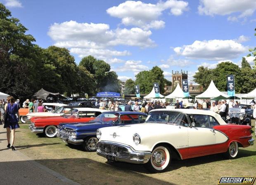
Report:
[[[155,109],[145,123],[97,130],[97,154],[111,162],[144,164],[166,171],[172,159],[224,153],[232,159],[238,147],[254,144],[251,126],[227,124],[212,111]]]

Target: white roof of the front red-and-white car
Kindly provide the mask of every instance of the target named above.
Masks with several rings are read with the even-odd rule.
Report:
[[[185,114],[201,114],[201,115],[209,115],[209,116],[213,116],[214,118],[216,118],[216,120],[218,121],[218,123],[220,123],[220,125],[226,125],[227,123],[225,123],[225,121],[220,117],[220,115],[218,113],[215,113],[213,111],[209,111],[209,110],[199,110],[199,109],[153,109],[150,112],[154,112],[154,111],[173,111],[173,112],[182,112]]]

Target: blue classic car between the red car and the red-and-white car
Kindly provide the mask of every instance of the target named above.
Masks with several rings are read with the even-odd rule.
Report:
[[[60,124],[57,137],[69,144],[83,145],[85,151],[95,152],[98,142],[97,129],[144,123],[146,118],[147,114],[142,112],[103,112],[90,122]]]

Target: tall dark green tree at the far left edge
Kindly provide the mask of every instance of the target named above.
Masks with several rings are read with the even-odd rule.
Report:
[[[19,19],[11,16],[0,3],[0,91],[22,99],[38,90],[40,49]]]

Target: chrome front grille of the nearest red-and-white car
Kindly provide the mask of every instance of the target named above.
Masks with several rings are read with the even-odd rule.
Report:
[[[115,154],[117,157],[128,158],[130,155],[126,148],[116,145],[103,144],[100,146],[102,151],[106,154]]]

